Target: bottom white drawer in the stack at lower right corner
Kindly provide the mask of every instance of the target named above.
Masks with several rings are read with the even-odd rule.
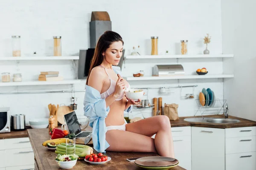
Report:
[[[226,155],[226,170],[256,170],[256,152]]]

